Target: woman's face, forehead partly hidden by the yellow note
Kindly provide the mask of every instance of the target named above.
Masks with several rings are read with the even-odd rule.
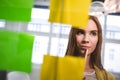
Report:
[[[89,55],[95,50],[98,42],[98,29],[92,19],[88,21],[85,29],[79,29],[76,40],[78,49],[83,55],[85,55],[86,50],[88,50]]]

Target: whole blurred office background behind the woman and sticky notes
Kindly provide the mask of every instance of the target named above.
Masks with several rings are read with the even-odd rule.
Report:
[[[110,1],[115,1],[114,5],[111,3],[113,9],[115,4],[120,3],[119,0]],[[67,47],[71,25],[48,22],[49,3],[49,0],[35,0],[30,22],[0,20],[0,29],[28,32],[35,35],[32,73],[28,74],[30,80],[39,80],[44,54],[50,53],[62,57]],[[93,0],[90,13],[97,15],[102,25],[102,63],[105,69],[115,75],[116,80],[120,80],[120,10],[117,9],[120,8],[120,4],[116,5],[115,10],[109,10],[110,8],[105,9],[107,6],[103,6],[103,3],[105,3],[104,0]]]

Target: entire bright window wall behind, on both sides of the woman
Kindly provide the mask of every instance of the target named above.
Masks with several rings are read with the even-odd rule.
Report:
[[[42,64],[43,55],[65,55],[71,25],[50,23],[49,9],[33,8],[29,23],[11,23],[0,20],[0,29],[6,28],[32,33],[35,36],[32,62]],[[108,71],[120,73],[120,16],[99,17],[103,30],[102,62]],[[119,79],[118,79],[119,80]]]

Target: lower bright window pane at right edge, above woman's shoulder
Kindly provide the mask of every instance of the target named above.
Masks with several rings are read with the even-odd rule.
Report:
[[[111,72],[120,73],[120,44],[105,44],[104,67]]]

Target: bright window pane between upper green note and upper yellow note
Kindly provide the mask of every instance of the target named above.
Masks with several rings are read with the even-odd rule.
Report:
[[[50,23],[48,22],[49,9],[33,8],[31,18],[32,20],[27,27],[28,31],[35,32],[50,31]]]

